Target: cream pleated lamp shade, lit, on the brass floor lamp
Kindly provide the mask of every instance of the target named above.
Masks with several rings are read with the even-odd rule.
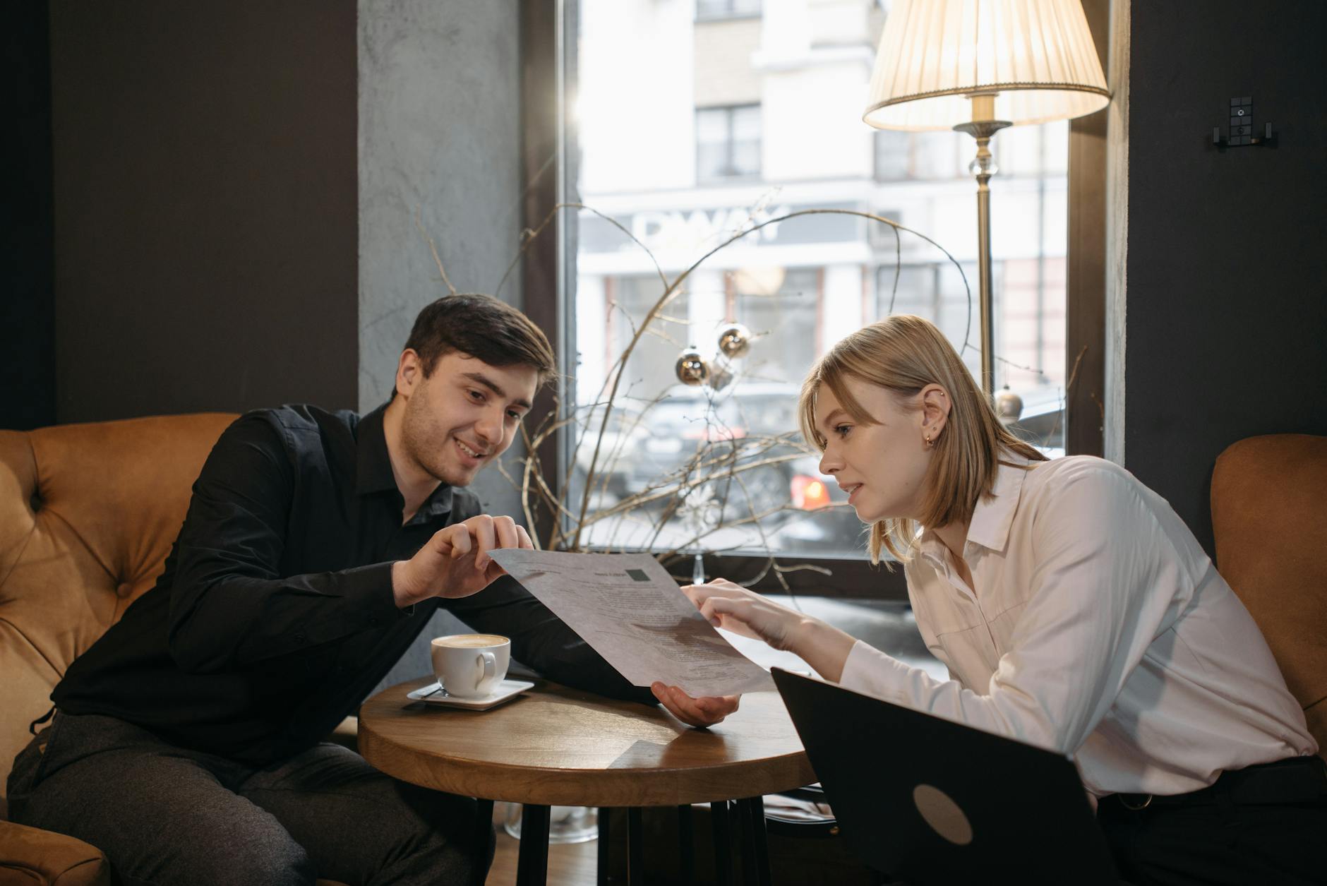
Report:
[[[1079,0],[894,0],[863,119],[877,129],[951,129],[973,94],[991,119],[1044,123],[1111,101]]]

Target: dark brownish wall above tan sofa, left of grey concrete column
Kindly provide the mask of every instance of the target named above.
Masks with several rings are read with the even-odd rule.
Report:
[[[357,401],[354,0],[50,4],[60,422]]]

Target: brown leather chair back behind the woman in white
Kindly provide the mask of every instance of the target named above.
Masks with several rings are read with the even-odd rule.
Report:
[[[1327,436],[1250,436],[1212,475],[1217,569],[1247,606],[1327,756]]]

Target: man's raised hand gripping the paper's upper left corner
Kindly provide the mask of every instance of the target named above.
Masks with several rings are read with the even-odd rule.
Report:
[[[391,565],[391,592],[406,607],[429,597],[468,597],[507,574],[488,556],[495,548],[533,549],[529,536],[511,517],[482,513],[433,533],[410,560]]]

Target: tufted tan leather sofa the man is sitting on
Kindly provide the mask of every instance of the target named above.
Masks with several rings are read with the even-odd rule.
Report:
[[[234,419],[0,431],[0,806],[28,724],[69,663],[157,581],[203,460]],[[98,849],[3,812],[0,883],[110,883]]]

